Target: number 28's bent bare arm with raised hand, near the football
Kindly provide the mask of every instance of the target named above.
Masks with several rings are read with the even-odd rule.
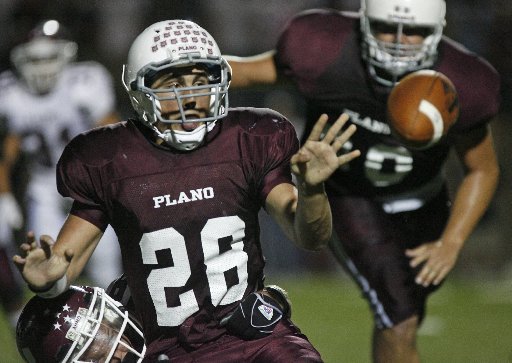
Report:
[[[359,150],[338,156],[342,145],[355,132],[351,125],[341,132],[348,117],[342,115],[322,137],[327,116],[315,124],[306,143],[292,157],[292,172],[297,188],[279,184],[267,196],[266,209],[287,236],[298,246],[318,250],[324,247],[332,233],[331,208],[324,190],[324,182],[341,165],[359,156]]]

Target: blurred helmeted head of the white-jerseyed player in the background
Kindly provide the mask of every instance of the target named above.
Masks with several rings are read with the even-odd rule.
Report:
[[[12,49],[11,62],[31,92],[50,92],[62,69],[75,59],[77,44],[62,36],[62,25],[47,20],[32,30],[26,43]]]

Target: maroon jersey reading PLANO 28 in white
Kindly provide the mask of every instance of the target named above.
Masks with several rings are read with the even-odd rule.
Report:
[[[261,287],[258,211],[292,183],[298,139],[282,115],[252,108],[230,110],[192,152],[157,146],[148,132],[127,121],[76,137],[57,183],[73,215],[114,228],[150,354],[169,339],[215,339],[232,304]]]

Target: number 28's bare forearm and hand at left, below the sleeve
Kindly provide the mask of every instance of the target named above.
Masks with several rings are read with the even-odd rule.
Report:
[[[95,225],[70,214],[57,241],[47,235],[37,241],[29,233],[20,246],[20,255],[14,256],[13,261],[33,291],[42,296],[57,294],[80,275],[102,234]]]

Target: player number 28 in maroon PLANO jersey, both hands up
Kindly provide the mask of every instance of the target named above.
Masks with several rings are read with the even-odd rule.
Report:
[[[53,296],[80,275],[110,224],[144,328],[144,361],[320,362],[279,292],[260,293],[258,212],[298,246],[324,247],[332,232],[324,181],[359,155],[337,155],[355,126],[340,132],[342,115],[322,135],[322,115],[299,148],[281,114],[228,108],[230,80],[199,25],[146,28],[123,72],[137,117],[68,144],[57,185],[74,199],[71,213],[56,242],[29,234],[14,261],[32,290]]]

